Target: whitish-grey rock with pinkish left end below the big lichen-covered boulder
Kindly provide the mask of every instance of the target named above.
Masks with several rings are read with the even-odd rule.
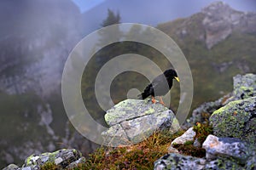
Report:
[[[218,138],[208,135],[202,147],[207,150],[207,160],[215,160],[220,156],[229,157],[240,164],[245,164],[248,157],[253,156],[255,148],[236,138]]]

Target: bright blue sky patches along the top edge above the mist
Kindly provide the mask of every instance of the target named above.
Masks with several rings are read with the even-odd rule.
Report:
[[[89,10],[90,8],[95,7],[96,5],[98,5],[104,1],[105,0],[73,0],[73,2],[79,6],[82,13],[84,11]],[[216,0],[189,0],[189,3],[196,4],[198,1],[207,1],[207,2],[211,3]],[[222,1],[230,4],[230,6],[232,8],[236,8],[241,11],[256,11],[256,0],[222,0]],[[150,1],[148,1],[148,3],[149,2]]]

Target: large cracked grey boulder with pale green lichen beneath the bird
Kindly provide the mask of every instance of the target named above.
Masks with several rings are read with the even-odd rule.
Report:
[[[151,100],[126,99],[107,111],[105,120],[110,126],[102,133],[105,144],[112,146],[136,144],[156,130],[179,128],[171,110]]]

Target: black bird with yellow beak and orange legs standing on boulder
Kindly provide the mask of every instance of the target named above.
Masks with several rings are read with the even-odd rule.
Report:
[[[138,95],[138,98],[146,99],[151,95],[152,102],[155,103],[154,96],[160,96],[160,104],[165,105],[161,96],[166,95],[172,88],[172,79],[174,78],[179,82],[176,71],[173,69],[166,70],[164,74],[155,77],[154,80],[144,89],[143,94]]]

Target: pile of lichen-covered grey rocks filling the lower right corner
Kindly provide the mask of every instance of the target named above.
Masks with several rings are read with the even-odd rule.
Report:
[[[233,80],[232,93],[193,111],[183,125],[190,128],[172,141],[170,153],[155,161],[154,169],[256,169],[256,75],[237,75]],[[200,143],[195,127],[206,123],[214,135]],[[205,156],[185,156],[175,148],[188,143],[204,149]]]

